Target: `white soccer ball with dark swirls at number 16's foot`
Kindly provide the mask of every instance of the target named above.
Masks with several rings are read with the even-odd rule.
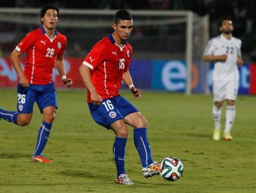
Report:
[[[174,156],[169,156],[160,164],[160,175],[167,181],[176,181],[183,173],[182,162]]]

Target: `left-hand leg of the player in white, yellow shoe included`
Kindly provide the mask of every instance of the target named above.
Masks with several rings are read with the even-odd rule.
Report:
[[[212,139],[218,141],[221,139],[221,107],[224,98],[224,87],[223,81],[213,81],[213,106],[212,106],[212,117],[214,120],[214,131]]]

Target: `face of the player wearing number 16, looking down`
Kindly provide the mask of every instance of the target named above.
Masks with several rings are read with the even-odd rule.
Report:
[[[122,20],[118,25],[113,23],[113,29],[118,34],[118,37],[121,40],[128,39],[129,35],[131,34],[131,30],[133,28],[133,21],[132,20]]]

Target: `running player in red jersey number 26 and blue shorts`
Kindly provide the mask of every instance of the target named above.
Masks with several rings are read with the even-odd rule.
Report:
[[[59,9],[55,5],[44,6],[40,15],[42,26],[29,32],[12,51],[10,59],[19,77],[17,112],[0,108],[1,119],[25,126],[30,123],[33,105],[37,102],[44,120],[39,128],[37,145],[31,160],[44,163],[51,163],[50,159],[44,158],[42,151],[48,141],[57,109],[57,97],[53,84],[55,65],[63,83],[67,87],[73,83],[71,79],[66,78],[65,74],[66,37],[56,30],[58,17]],[[22,70],[19,57],[24,52],[26,52],[26,63]]]

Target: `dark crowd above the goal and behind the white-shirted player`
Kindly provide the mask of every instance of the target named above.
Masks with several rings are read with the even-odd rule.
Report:
[[[256,62],[256,2],[254,0],[1,0],[0,7],[41,8],[55,3],[60,8],[128,10],[192,10],[198,15],[209,14],[210,37],[219,34],[222,17],[231,17],[235,37],[243,41],[242,51]]]

